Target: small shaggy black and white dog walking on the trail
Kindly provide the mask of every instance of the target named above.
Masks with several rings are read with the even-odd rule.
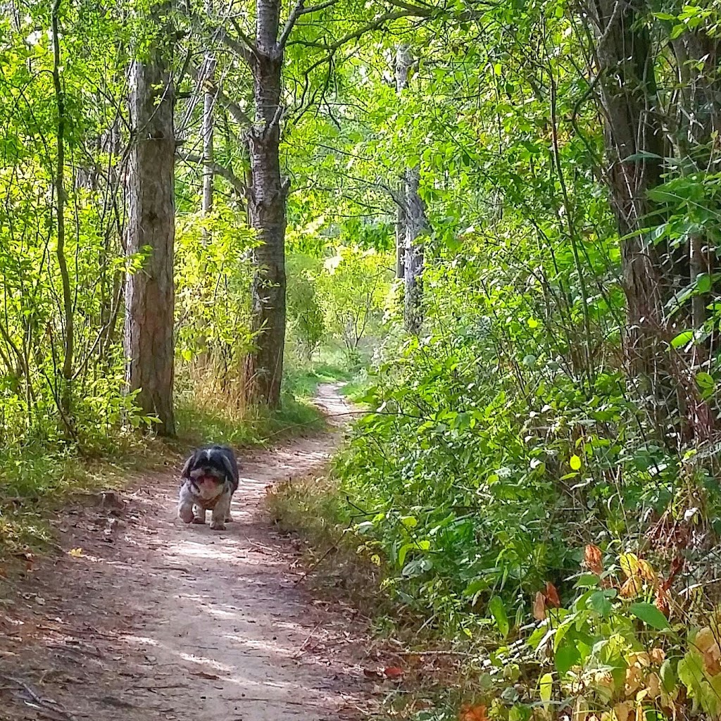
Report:
[[[185,461],[180,477],[178,518],[185,523],[205,523],[205,511],[212,510],[211,528],[224,531],[225,524],[233,520],[230,503],[238,488],[238,462],[231,448],[198,448]]]

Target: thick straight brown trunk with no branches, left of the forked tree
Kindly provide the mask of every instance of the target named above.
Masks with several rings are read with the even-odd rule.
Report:
[[[158,6],[156,6],[157,8]],[[174,435],[173,252],[175,239],[174,91],[167,53],[151,48],[131,66],[133,146],[128,188],[128,254],[149,248],[125,288],[128,389],[156,415],[158,433]]]

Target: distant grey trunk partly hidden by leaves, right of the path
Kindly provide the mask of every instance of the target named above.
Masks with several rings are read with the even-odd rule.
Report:
[[[396,52],[396,90],[402,94],[408,84],[412,63],[410,50],[400,45]],[[401,208],[396,232],[397,273],[404,279],[403,324],[410,333],[419,333],[423,325],[423,234],[428,229],[425,203],[418,193],[420,172],[417,166],[408,168],[399,194]],[[402,263],[400,262],[402,257]]]

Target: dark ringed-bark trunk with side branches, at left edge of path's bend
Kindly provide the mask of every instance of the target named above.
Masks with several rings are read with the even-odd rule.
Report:
[[[251,62],[256,122],[248,134],[250,224],[261,241],[253,257],[252,329],[256,350],[246,366],[249,400],[278,407],[286,338],[286,200],[280,174],[283,51],[278,46],[280,0],[257,0],[256,50]]]

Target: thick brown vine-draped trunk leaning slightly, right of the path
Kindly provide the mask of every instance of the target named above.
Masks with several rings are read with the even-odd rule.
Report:
[[[642,12],[629,0],[594,0],[596,55],[609,164],[611,206],[619,234],[638,233],[651,208],[647,191],[660,182],[663,136],[650,39]],[[644,154],[639,158],[638,154]],[[653,156],[658,156],[656,159]],[[640,235],[622,241],[628,322],[624,350],[636,376],[652,379],[665,365],[663,304],[668,287],[658,247]]]

